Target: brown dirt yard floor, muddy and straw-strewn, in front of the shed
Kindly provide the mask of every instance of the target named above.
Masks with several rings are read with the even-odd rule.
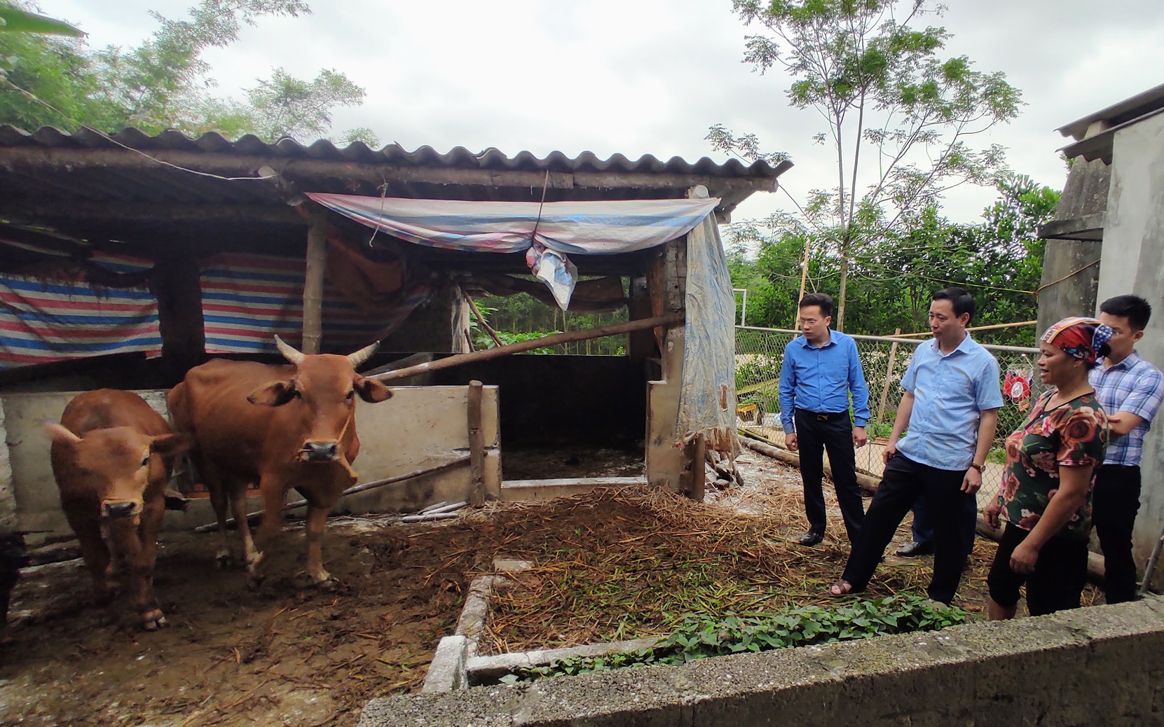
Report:
[[[758,604],[773,594],[828,601],[823,578],[839,573],[847,550],[836,539],[842,528],[822,547],[795,544],[804,528],[799,472],[754,452],[741,459],[746,486],[711,493],[707,504],[668,500],[660,507],[644,505],[655,496],[608,494],[490,506],[440,525],[333,519],[325,544],[325,563],[339,580],[333,590],[297,580],[303,534],[292,527],[284,542],[267,548],[267,577],[256,589],[244,585],[240,571],[214,566],[217,535],[165,534],[156,587],[170,626],[158,633],[127,623],[125,601],[111,610],[88,605],[88,578],[76,563],[42,566],[17,586],[15,642],[0,647],[0,725],[354,725],[368,699],[419,690],[436,642],[455,628],[469,582],[496,556],[534,559],[528,577],[544,583],[526,582],[498,604],[490,650],[661,633],[663,620],[650,614],[670,601],[648,608],[650,593],[637,606],[612,603],[606,615],[595,608],[602,590],[594,584],[611,580],[611,566],[623,569],[622,580],[638,568],[658,573],[644,583],[663,585],[669,578],[723,585],[725,573],[734,579],[733,590],[723,585],[719,596],[691,591],[691,608],[750,594]],[[839,514],[831,516],[839,526]],[[714,529],[708,523],[736,532],[737,519],[757,547],[705,539]],[[903,526],[899,540],[907,533]],[[655,562],[643,565],[647,543]],[[700,543],[707,543],[704,557]],[[598,551],[631,559],[609,555],[599,562]],[[993,551],[993,543],[979,541],[961,591],[967,608],[982,607]],[[916,590],[930,564],[890,556],[871,592]],[[810,579],[801,571],[817,575]],[[523,600],[537,592],[547,598]],[[521,608],[539,616],[524,619]],[[627,610],[648,616],[627,620]]]

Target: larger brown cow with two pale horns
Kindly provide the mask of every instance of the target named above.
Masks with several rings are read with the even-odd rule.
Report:
[[[230,557],[229,500],[247,575],[254,583],[263,554],[247,526],[247,485],[257,482],[263,498],[260,540],[264,544],[282,529],[283,501],[294,487],[307,500],[307,573],[325,583],[331,579],[322,561],[327,513],[356,482],[352,469],[360,454],[355,398],[384,401],[392,392],[356,373],[375,344],[349,356],[333,356],[301,354],[278,336],[275,342],[293,365],[210,361],[191,369],[170,391],[170,412],[178,429],[193,434],[197,442],[192,455],[222,534],[219,563]]]

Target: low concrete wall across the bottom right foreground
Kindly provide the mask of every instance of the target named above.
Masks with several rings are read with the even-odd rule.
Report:
[[[374,699],[360,727],[1164,725],[1164,603]]]

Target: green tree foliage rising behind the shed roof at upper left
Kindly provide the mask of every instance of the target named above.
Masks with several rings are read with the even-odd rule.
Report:
[[[17,5],[0,0],[0,7]],[[310,12],[303,0],[201,0],[184,19],[151,13],[157,29],[133,48],[93,50],[83,40],[0,34],[0,57],[13,62],[0,73],[0,122],[308,141],[331,129],[336,106],[361,104],[364,90],[335,70],[303,80],[277,67],[269,79],[256,79],[246,101],[220,98],[203,55],[230,45],[263,17]],[[375,141],[368,129],[356,131]]]

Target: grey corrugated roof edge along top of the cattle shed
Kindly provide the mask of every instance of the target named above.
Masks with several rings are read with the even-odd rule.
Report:
[[[561,151],[552,151],[541,158],[530,151],[520,151],[516,156],[510,157],[495,148],[474,154],[463,147],[454,147],[448,152],[440,154],[427,145],[409,151],[395,143],[383,147],[379,150],[374,150],[363,142],[354,142],[341,149],[326,138],[318,140],[308,145],[300,144],[290,137],[282,138],[274,144],[268,144],[253,134],[247,134],[237,141],[232,142],[215,133],[203,134],[198,138],[192,138],[176,130],[162,131],[161,134],[150,136],[133,128],[123,129],[119,134],[112,135],[112,138],[120,144],[147,152],[161,150],[200,151],[206,154],[271,156],[365,164],[449,166],[457,169],[549,170],[555,172],[624,171],[775,179],[792,166],[788,163],[773,168],[764,161],[744,165],[737,159],[729,159],[719,164],[708,157],[703,157],[693,164],[681,157],[672,157],[665,162],[652,155],[644,155],[632,161],[620,154],[602,159],[589,151],[583,151],[576,157],[569,157]],[[0,147],[118,149],[118,143],[90,129],[68,134],[54,127],[41,127],[36,131],[28,133],[9,124],[0,126]]]

